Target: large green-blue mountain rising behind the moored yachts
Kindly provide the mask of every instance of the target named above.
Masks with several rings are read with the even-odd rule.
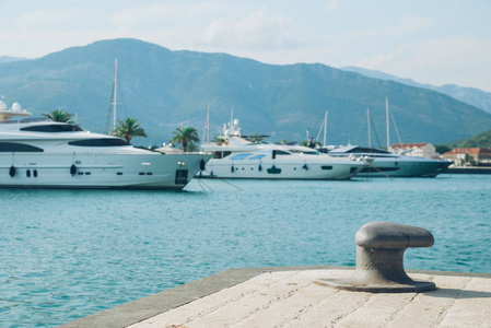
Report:
[[[317,134],[329,110],[329,143],[366,143],[369,107],[385,140],[385,97],[402,142],[444,143],[491,127],[491,115],[481,109],[394,81],[324,65],[273,66],[225,54],[172,51],[136,39],[103,40],[1,63],[0,94],[9,105],[19,102],[36,116],[50,109],[77,110],[82,127],[102,132],[115,57],[118,117],[142,124],[149,138],[136,140],[139,144],[168,142],[176,128],[187,125],[201,133],[208,103],[211,134],[230,121],[233,108],[244,133],[270,134],[272,141],[305,140],[306,129]]]

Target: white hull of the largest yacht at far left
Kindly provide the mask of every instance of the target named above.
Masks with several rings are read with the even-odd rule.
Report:
[[[2,153],[0,187],[183,189],[210,154]]]

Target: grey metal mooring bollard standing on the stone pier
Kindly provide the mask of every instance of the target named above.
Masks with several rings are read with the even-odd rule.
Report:
[[[348,280],[322,280],[331,288],[372,293],[428,292],[433,282],[414,281],[404,269],[404,253],[431,247],[433,235],[425,229],[394,222],[370,222],[355,235],[356,269]]]

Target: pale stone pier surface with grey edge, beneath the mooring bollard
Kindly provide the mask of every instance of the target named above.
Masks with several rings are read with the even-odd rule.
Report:
[[[366,293],[324,282],[348,267],[231,269],[61,327],[491,327],[491,274],[413,271],[423,293]]]

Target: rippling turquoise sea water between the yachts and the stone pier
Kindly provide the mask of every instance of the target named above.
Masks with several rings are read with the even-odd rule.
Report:
[[[491,273],[491,175],[229,183],[1,189],[0,327],[57,326],[230,268],[354,266],[371,221],[433,233],[407,269]]]

